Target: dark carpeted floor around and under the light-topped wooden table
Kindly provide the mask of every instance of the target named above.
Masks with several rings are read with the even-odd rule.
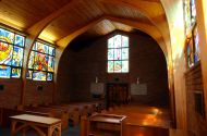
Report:
[[[10,136],[10,128],[0,127],[0,136]],[[16,136],[22,136],[22,134],[17,134]],[[34,133],[27,133],[26,136],[38,136]],[[73,126],[64,129],[62,132],[62,136],[80,136],[80,126]]]

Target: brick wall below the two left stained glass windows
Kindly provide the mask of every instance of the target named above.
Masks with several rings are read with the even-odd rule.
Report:
[[[4,89],[0,90],[0,107],[15,108],[21,103],[23,83],[21,79],[0,79]],[[42,86],[42,90],[37,87]],[[53,83],[27,81],[25,86],[25,104],[52,102]]]

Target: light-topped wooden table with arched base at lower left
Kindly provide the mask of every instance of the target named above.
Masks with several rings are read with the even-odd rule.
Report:
[[[11,119],[11,136],[15,136],[20,131],[23,131],[23,136],[26,136],[25,133],[29,128],[35,129],[39,136],[53,136],[54,131],[57,131],[56,136],[61,136],[61,120],[59,119],[31,114],[15,115]]]

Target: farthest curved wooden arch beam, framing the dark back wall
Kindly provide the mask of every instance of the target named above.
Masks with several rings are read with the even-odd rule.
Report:
[[[132,20],[127,20],[127,18],[123,18],[123,17],[117,17],[117,16],[100,16],[94,21],[92,21],[89,24],[86,24],[80,28],[77,28],[76,30],[74,30],[73,33],[71,33],[70,35],[68,35],[66,37],[63,37],[62,39],[57,41],[57,45],[59,48],[57,48],[57,57],[56,57],[56,65],[54,65],[54,74],[58,74],[58,66],[59,66],[59,62],[60,59],[62,57],[62,53],[64,51],[64,49],[66,48],[66,46],[78,35],[85,33],[86,30],[88,30],[89,28],[92,28],[94,25],[98,24],[99,22],[104,21],[104,20],[110,20],[110,21],[114,21],[114,22],[119,22],[129,26],[132,26],[134,28],[141,29],[145,33],[147,33],[149,36],[151,36],[160,46],[160,48],[162,49],[166,58],[168,57],[167,54],[167,46],[163,41],[163,38],[161,36],[161,34],[159,33],[159,30],[157,29],[156,26],[154,26],[153,24],[144,24],[144,23],[138,23],[137,21],[132,21]],[[57,75],[54,76],[54,83],[57,83]],[[58,89],[56,88],[54,90],[56,92],[53,94],[53,96],[57,96],[58,94]]]

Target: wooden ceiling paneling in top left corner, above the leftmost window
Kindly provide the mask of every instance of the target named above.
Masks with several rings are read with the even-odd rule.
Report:
[[[69,0],[2,0],[0,18],[27,28],[68,2]]]

